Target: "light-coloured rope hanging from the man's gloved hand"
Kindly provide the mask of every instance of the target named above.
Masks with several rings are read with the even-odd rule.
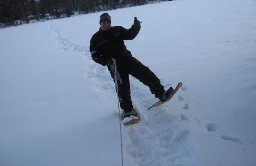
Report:
[[[117,103],[118,103],[118,112],[119,112],[119,128],[120,128],[120,138],[121,138],[121,159],[122,159],[122,166],[124,165],[123,162],[123,139],[122,139],[122,129],[121,129],[121,113],[120,113],[120,106],[119,106],[119,95],[118,95],[118,83],[119,80],[121,84],[123,84],[122,79],[117,71],[116,66],[116,59],[112,58],[113,65],[111,66],[112,72],[114,72],[114,79],[116,84],[116,92],[117,92]]]

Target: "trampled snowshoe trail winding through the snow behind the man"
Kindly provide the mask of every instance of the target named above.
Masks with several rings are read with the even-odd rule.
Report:
[[[116,101],[115,86],[106,67],[96,64],[92,59],[88,46],[79,46],[67,39],[61,37],[60,32],[54,29],[50,24],[49,29],[52,31],[52,38],[56,40],[56,48],[64,51],[72,51],[84,56],[86,67],[88,69],[85,77],[91,78],[97,87],[92,89],[95,91],[105,91],[108,97]],[[132,76],[131,76],[132,77]],[[133,77],[132,77],[133,78]],[[136,80],[135,78],[133,78]],[[193,156],[195,155],[194,147],[189,143],[189,130],[180,130],[178,122],[188,120],[185,115],[172,115],[166,113],[167,107],[160,106],[148,110],[156,100],[153,95],[147,97],[140,93],[140,88],[131,81],[131,96],[134,107],[140,113],[140,122],[135,125],[122,126],[123,132],[127,132],[132,144],[125,147],[126,154],[129,155],[136,165],[194,165]],[[171,83],[164,84],[165,88],[170,87]],[[182,91],[186,91],[186,87],[182,87]],[[175,96],[180,101],[184,100],[182,96]],[[104,108],[104,104],[97,96],[99,102]],[[117,102],[116,102],[117,104]],[[189,109],[189,104],[184,105],[184,109]],[[116,106],[117,107],[117,106]],[[117,130],[117,122],[119,120],[118,110],[110,110],[105,108],[105,113],[114,116],[116,122],[111,122]],[[124,130],[125,129],[125,130]],[[168,131],[168,132],[166,132]],[[148,150],[150,149],[150,150]],[[157,154],[157,155],[156,155]]]

